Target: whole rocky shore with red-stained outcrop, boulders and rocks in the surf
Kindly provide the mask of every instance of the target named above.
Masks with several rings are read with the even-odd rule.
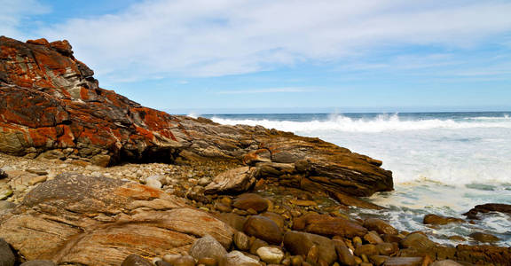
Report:
[[[0,36],[0,265],[510,265],[509,247],[353,218],[384,209],[361,197],[393,190],[380,160],[169,115],[93,74],[67,41]],[[509,207],[467,215],[495,211]]]

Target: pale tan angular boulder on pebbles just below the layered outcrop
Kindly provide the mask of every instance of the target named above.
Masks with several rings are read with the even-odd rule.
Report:
[[[233,168],[221,173],[206,186],[207,193],[247,192],[255,184],[256,168]]]

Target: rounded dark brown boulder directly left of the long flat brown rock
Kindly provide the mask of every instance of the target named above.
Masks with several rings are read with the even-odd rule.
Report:
[[[279,245],[282,242],[282,231],[279,225],[261,215],[250,216],[243,225],[243,231],[249,236],[263,239],[271,244]]]

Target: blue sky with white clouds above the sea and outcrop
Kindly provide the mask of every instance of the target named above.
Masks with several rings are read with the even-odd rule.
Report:
[[[169,113],[511,110],[511,1],[0,0],[0,35],[67,39]]]

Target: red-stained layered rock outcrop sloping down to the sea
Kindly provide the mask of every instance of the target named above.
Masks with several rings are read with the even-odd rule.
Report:
[[[146,108],[99,88],[93,74],[67,41],[1,36],[0,152],[100,166],[233,160],[255,167],[248,178],[309,191],[369,196],[393,188],[379,160],[318,138]]]

